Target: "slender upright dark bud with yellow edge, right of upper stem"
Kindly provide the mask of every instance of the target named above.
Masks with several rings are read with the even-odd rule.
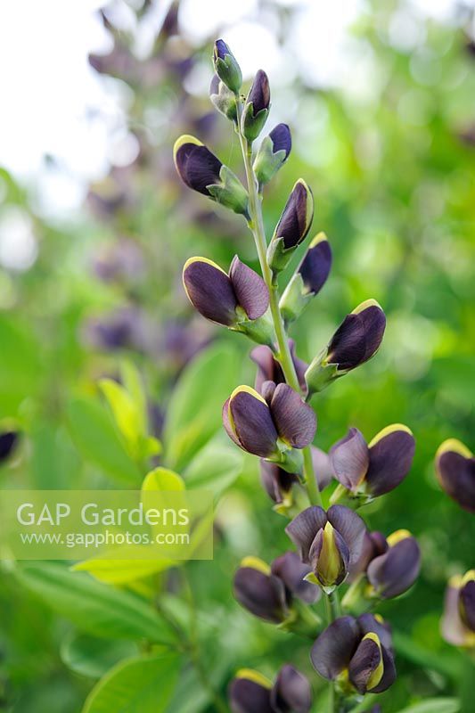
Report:
[[[287,265],[299,244],[307,237],[314,218],[314,196],[302,178],[293,186],[267,250],[267,262],[274,273]]]

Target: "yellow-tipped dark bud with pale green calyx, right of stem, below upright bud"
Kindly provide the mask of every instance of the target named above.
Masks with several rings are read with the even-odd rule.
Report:
[[[319,233],[310,243],[279,302],[286,323],[297,319],[311,299],[322,290],[331,268],[330,243],[324,233]]]

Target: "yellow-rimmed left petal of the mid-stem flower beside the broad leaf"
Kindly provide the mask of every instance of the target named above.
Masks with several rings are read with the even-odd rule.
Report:
[[[229,399],[229,411],[234,431],[248,453],[268,458],[277,447],[277,431],[269,407],[254,396],[252,389],[236,389]]]

